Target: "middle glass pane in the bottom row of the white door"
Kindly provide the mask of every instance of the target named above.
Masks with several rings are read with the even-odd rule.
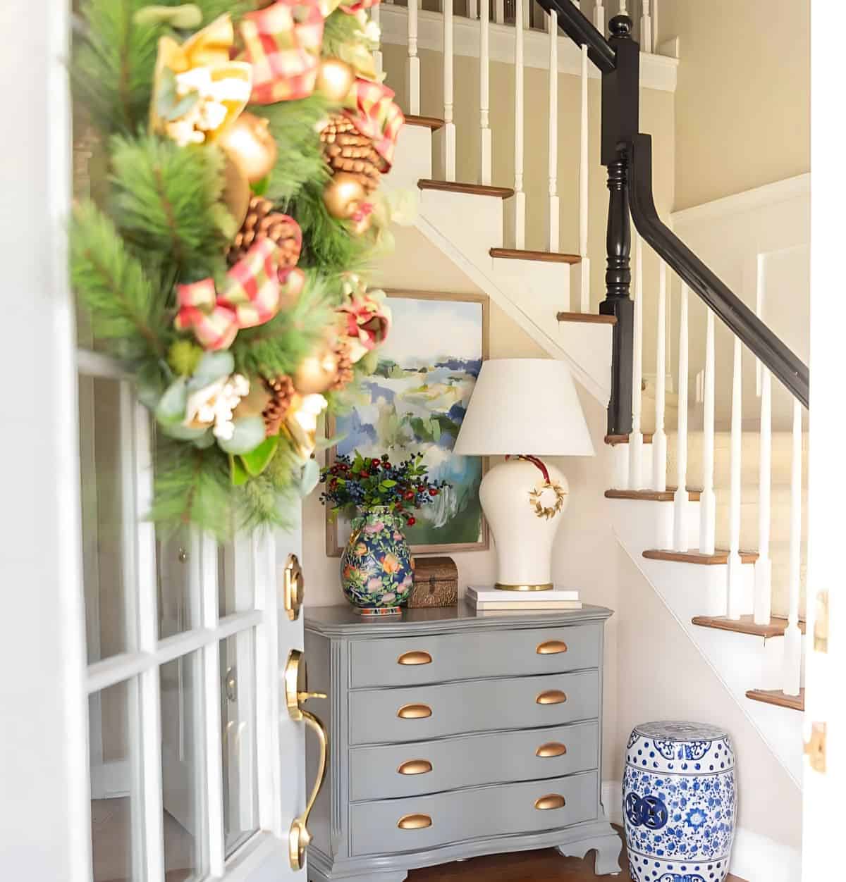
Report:
[[[208,871],[200,653],[162,665],[160,677],[164,868],[168,882],[185,882]]]

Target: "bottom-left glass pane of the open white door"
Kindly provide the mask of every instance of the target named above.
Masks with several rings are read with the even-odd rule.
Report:
[[[94,882],[141,882],[138,684],[132,679],[88,699]]]

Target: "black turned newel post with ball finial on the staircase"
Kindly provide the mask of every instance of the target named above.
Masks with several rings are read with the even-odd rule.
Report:
[[[616,67],[602,78],[602,164],[608,168],[608,270],[602,315],[615,316],[611,364],[608,434],[631,432],[631,363],[634,346],[634,303],[631,288],[631,218],[629,214],[630,144],[639,129],[640,47],[631,39],[631,19],[611,19],[610,43]]]

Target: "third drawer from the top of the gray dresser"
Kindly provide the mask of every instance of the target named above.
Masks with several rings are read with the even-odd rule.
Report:
[[[395,799],[599,767],[599,724],[495,732],[350,751],[350,799]]]

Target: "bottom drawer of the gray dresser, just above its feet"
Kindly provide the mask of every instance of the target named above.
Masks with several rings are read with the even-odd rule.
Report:
[[[598,816],[596,772],[355,803],[350,806],[351,852],[359,856],[419,851],[481,837],[540,833]]]

